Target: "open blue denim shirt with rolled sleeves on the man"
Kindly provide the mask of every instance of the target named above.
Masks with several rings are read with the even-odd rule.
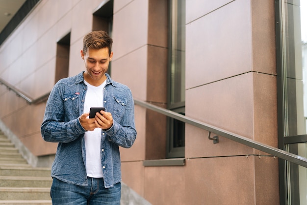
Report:
[[[52,88],[41,126],[43,139],[58,143],[51,176],[76,185],[87,185],[84,133],[79,117],[83,113],[87,86],[83,73],[61,79]],[[104,187],[121,181],[119,146],[128,148],[136,138],[134,102],[131,90],[105,74],[103,105],[113,125],[101,134],[101,162]]]

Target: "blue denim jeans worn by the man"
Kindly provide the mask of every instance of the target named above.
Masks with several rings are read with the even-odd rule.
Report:
[[[87,177],[87,180],[87,186],[78,186],[53,178],[52,205],[120,205],[120,182],[106,189],[103,178]]]

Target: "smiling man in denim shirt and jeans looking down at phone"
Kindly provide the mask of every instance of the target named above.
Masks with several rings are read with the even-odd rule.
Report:
[[[132,146],[136,130],[130,89],[106,74],[112,43],[104,31],[85,35],[85,71],[51,90],[41,133],[59,143],[51,169],[53,205],[120,205],[119,146]],[[105,111],[89,118],[91,107]]]

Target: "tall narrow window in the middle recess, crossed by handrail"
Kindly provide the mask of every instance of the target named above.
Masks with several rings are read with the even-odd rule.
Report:
[[[170,0],[168,109],[184,115],[185,105],[185,0]],[[184,157],[185,124],[168,119],[167,157]]]

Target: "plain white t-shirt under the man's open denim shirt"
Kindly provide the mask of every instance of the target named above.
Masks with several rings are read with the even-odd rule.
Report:
[[[84,113],[90,112],[91,107],[103,106],[103,88],[106,81],[102,85],[92,86],[84,80],[87,85],[87,91],[84,102]],[[94,131],[87,131],[84,134],[85,150],[86,150],[86,173],[87,176],[93,178],[102,178],[101,164],[101,128],[96,128]]]

